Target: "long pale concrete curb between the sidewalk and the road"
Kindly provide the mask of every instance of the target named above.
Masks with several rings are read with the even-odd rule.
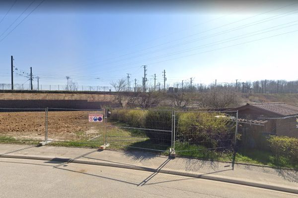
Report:
[[[100,166],[111,166],[117,168],[127,168],[127,169],[134,169],[134,170],[142,170],[142,171],[149,171],[149,172],[158,172],[158,173],[165,173],[165,174],[172,174],[172,175],[180,175],[180,176],[187,176],[187,177],[194,177],[194,178],[201,178],[201,179],[208,179],[214,181],[221,181],[221,182],[228,182],[233,184],[240,184],[264,189],[270,189],[275,191],[283,191],[287,193],[295,193],[298,194],[298,189],[292,189],[287,187],[281,187],[274,184],[265,184],[265,183],[257,183],[252,181],[243,181],[239,179],[233,179],[228,177],[216,176],[216,175],[206,175],[206,174],[195,174],[195,173],[187,173],[187,172],[180,172],[174,170],[167,170],[167,169],[155,169],[143,166],[134,166],[129,164],[118,164],[118,163],[111,163],[111,162],[98,162],[98,161],[90,161],[90,160],[81,160],[81,159],[72,159],[72,158],[65,158],[65,157],[44,157],[44,156],[30,156],[30,155],[0,155],[2,158],[21,158],[21,159],[36,159],[36,160],[46,160],[46,161],[59,161],[59,162],[69,162],[69,163],[80,163],[80,164],[91,164],[91,165],[100,165]]]

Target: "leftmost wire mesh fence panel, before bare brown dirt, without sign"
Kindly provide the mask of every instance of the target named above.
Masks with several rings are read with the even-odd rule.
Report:
[[[1,142],[40,142],[44,140],[44,108],[0,108]]]

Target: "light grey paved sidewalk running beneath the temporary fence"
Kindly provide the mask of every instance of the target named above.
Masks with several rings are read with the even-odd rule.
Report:
[[[298,171],[200,159],[155,155],[137,151],[92,148],[36,147],[0,144],[0,157],[31,158],[64,163],[87,163],[147,170],[231,182],[298,194]]]

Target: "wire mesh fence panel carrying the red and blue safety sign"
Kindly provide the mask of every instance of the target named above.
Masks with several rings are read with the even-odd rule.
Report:
[[[103,114],[102,109],[48,108],[48,141],[52,144],[74,143],[74,146],[75,143],[77,145],[103,144]]]

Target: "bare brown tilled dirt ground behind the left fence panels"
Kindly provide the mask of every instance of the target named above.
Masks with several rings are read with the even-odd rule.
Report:
[[[89,113],[99,111],[49,111],[48,138],[84,140],[103,133],[103,123],[88,121]],[[0,136],[43,140],[45,112],[0,112]]]

